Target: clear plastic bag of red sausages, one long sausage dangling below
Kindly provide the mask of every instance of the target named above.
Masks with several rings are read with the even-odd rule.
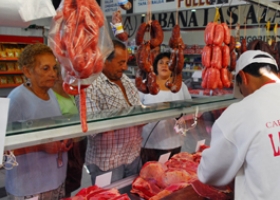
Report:
[[[88,87],[102,72],[103,63],[114,50],[108,23],[95,0],[64,0],[53,18],[48,43],[61,65],[63,89],[80,96],[80,119],[86,124]]]

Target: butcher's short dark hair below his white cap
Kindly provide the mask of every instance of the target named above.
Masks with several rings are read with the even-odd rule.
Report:
[[[265,68],[267,69],[267,71],[272,72],[276,75],[278,74],[277,66],[270,63],[251,63],[250,65],[247,65],[245,68],[243,68],[241,71],[246,72],[255,77],[261,77],[262,76],[262,74],[260,73],[261,68]],[[236,82],[238,84],[242,83],[242,78],[239,74],[236,74]]]

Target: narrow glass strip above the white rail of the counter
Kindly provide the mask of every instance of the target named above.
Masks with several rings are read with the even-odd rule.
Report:
[[[166,103],[157,103],[150,105],[139,105],[133,106],[130,108],[120,108],[117,110],[107,110],[100,111],[87,115],[88,123],[104,121],[108,119],[116,119],[127,116],[148,114],[154,112],[161,112],[172,109],[186,108],[194,105],[226,101],[233,99],[232,95],[225,96],[215,96],[215,97],[207,97],[207,98],[195,98],[192,100],[185,101],[174,101],[174,102],[166,102]],[[45,129],[53,129],[62,126],[70,126],[76,125],[80,123],[79,115],[64,115],[52,118],[45,118],[39,120],[27,120],[20,122],[9,123],[7,127],[7,136],[23,134],[32,131],[45,130]]]

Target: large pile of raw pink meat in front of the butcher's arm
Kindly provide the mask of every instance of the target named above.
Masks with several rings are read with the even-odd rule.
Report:
[[[131,193],[149,200],[159,200],[185,187],[192,187],[197,194],[212,200],[230,199],[226,192],[201,183],[197,178],[197,167],[202,147],[197,153],[181,152],[165,164],[157,161],[145,163],[139,176],[132,183]],[[187,196],[186,196],[187,198]]]

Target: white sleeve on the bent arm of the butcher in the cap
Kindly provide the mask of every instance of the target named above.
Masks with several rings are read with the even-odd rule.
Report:
[[[211,133],[210,148],[205,149],[198,166],[197,175],[201,182],[223,186],[230,183],[242,165],[236,146],[224,137],[217,123]]]

